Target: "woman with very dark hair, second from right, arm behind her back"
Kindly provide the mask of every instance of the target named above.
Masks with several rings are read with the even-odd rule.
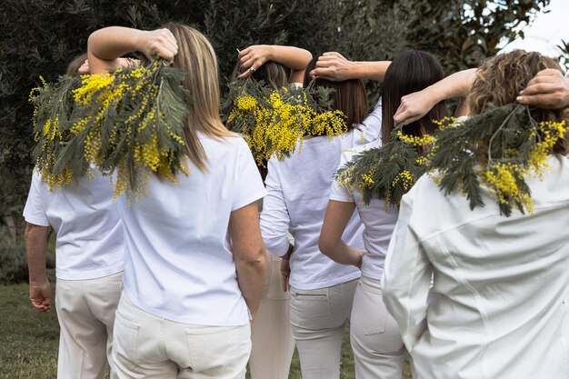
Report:
[[[393,116],[401,97],[433,85],[443,78],[443,68],[433,55],[406,51],[389,65],[384,77],[382,140],[389,141],[394,128]],[[444,117],[444,102],[434,106],[428,115],[407,125],[405,134],[430,135],[433,120]],[[340,167],[367,148],[381,146],[381,141],[344,151]],[[364,250],[343,241],[345,226],[357,209],[364,223]],[[362,195],[348,191],[334,181],[320,234],[320,250],[335,262],[359,267],[362,276],[354,295],[350,339],[354,350],[357,379],[401,378],[404,344],[391,314],[382,300],[381,277],[384,259],[398,210],[386,208],[384,200],[372,199],[364,204]]]

